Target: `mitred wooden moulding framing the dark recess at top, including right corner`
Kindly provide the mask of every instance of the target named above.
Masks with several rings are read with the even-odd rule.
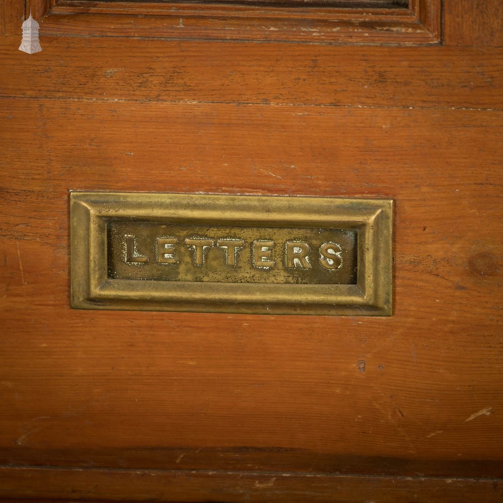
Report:
[[[49,35],[320,43],[439,42],[440,0],[411,9],[253,7],[61,0],[45,19]]]

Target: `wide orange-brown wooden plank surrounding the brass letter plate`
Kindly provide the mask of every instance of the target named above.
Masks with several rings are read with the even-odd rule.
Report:
[[[5,463],[501,469],[500,112],[5,104]],[[68,189],[392,197],[394,315],[71,310]]]

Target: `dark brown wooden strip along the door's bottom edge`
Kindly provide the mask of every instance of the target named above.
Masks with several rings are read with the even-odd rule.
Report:
[[[459,503],[475,501],[471,498],[474,493],[479,494],[484,503],[499,503],[503,497],[502,479],[363,478],[326,474],[307,478],[295,473],[246,471],[0,468],[0,484],[7,488],[22,486],[23,490],[18,494],[27,498],[36,493],[42,498],[50,498],[50,501],[94,503],[126,501],[123,494],[129,495],[126,503],[152,500],[193,503],[402,503],[409,501],[413,494],[421,494],[424,503]],[[211,487],[211,492],[208,492],[208,487]],[[0,501],[7,503],[2,499]],[[33,500],[25,501],[29,502],[35,503]],[[47,503],[47,499],[37,499],[36,503]]]

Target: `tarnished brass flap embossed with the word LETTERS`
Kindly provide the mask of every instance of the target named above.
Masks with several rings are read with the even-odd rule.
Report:
[[[110,221],[108,277],[356,284],[356,245],[355,230]]]

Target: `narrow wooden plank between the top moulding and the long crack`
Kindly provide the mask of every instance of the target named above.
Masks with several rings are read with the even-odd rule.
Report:
[[[0,40],[9,75],[0,96],[503,108],[502,49],[41,40],[44,50],[30,57],[11,57],[17,38]]]

